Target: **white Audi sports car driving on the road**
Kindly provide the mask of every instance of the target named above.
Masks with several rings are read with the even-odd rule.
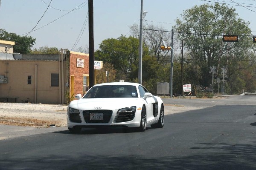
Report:
[[[82,127],[135,127],[145,131],[148,125],[164,125],[164,107],[161,98],[152,95],[136,83],[104,83],[89,89],[67,108],[67,126],[71,133]]]

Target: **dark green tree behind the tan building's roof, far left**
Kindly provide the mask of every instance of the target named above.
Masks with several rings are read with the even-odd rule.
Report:
[[[32,46],[35,44],[35,38],[31,36],[20,36],[16,33],[8,33],[4,29],[0,29],[0,39],[7,41],[14,41],[13,52],[19,52],[21,54],[29,54]]]

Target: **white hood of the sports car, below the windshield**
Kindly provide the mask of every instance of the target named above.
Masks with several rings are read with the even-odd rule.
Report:
[[[82,98],[71,101],[69,107],[79,110],[116,110],[131,106],[142,107],[141,98]],[[96,108],[101,107],[101,108]]]

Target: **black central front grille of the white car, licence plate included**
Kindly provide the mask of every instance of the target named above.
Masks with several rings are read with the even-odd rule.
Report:
[[[84,110],[84,121],[86,123],[108,123],[111,119],[112,113],[112,110]]]

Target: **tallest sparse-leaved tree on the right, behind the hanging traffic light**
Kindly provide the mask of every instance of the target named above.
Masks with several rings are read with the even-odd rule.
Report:
[[[249,23],[246,23],[235,9],[224,5],[204,4],[194,6],[183,12],[182,19],[176,20],[174,26],[177,38],[184,41],[184,47],[189,51],[191,64],[199,72],[200,84],[208,86],[209,66],[219,66],[218,61],[225,61],[228,56],[246,54],[252,49],[251,38],[243,35],[250,35]],[[222,42],[222,35],[242,35],[239,42]],[[244,56],[244,55],[243,55]],[[227,60],[221,64],[227,63]],[[230,66],[231,67],[231,66]],[[220,73],[220,71],[218,72]]]

